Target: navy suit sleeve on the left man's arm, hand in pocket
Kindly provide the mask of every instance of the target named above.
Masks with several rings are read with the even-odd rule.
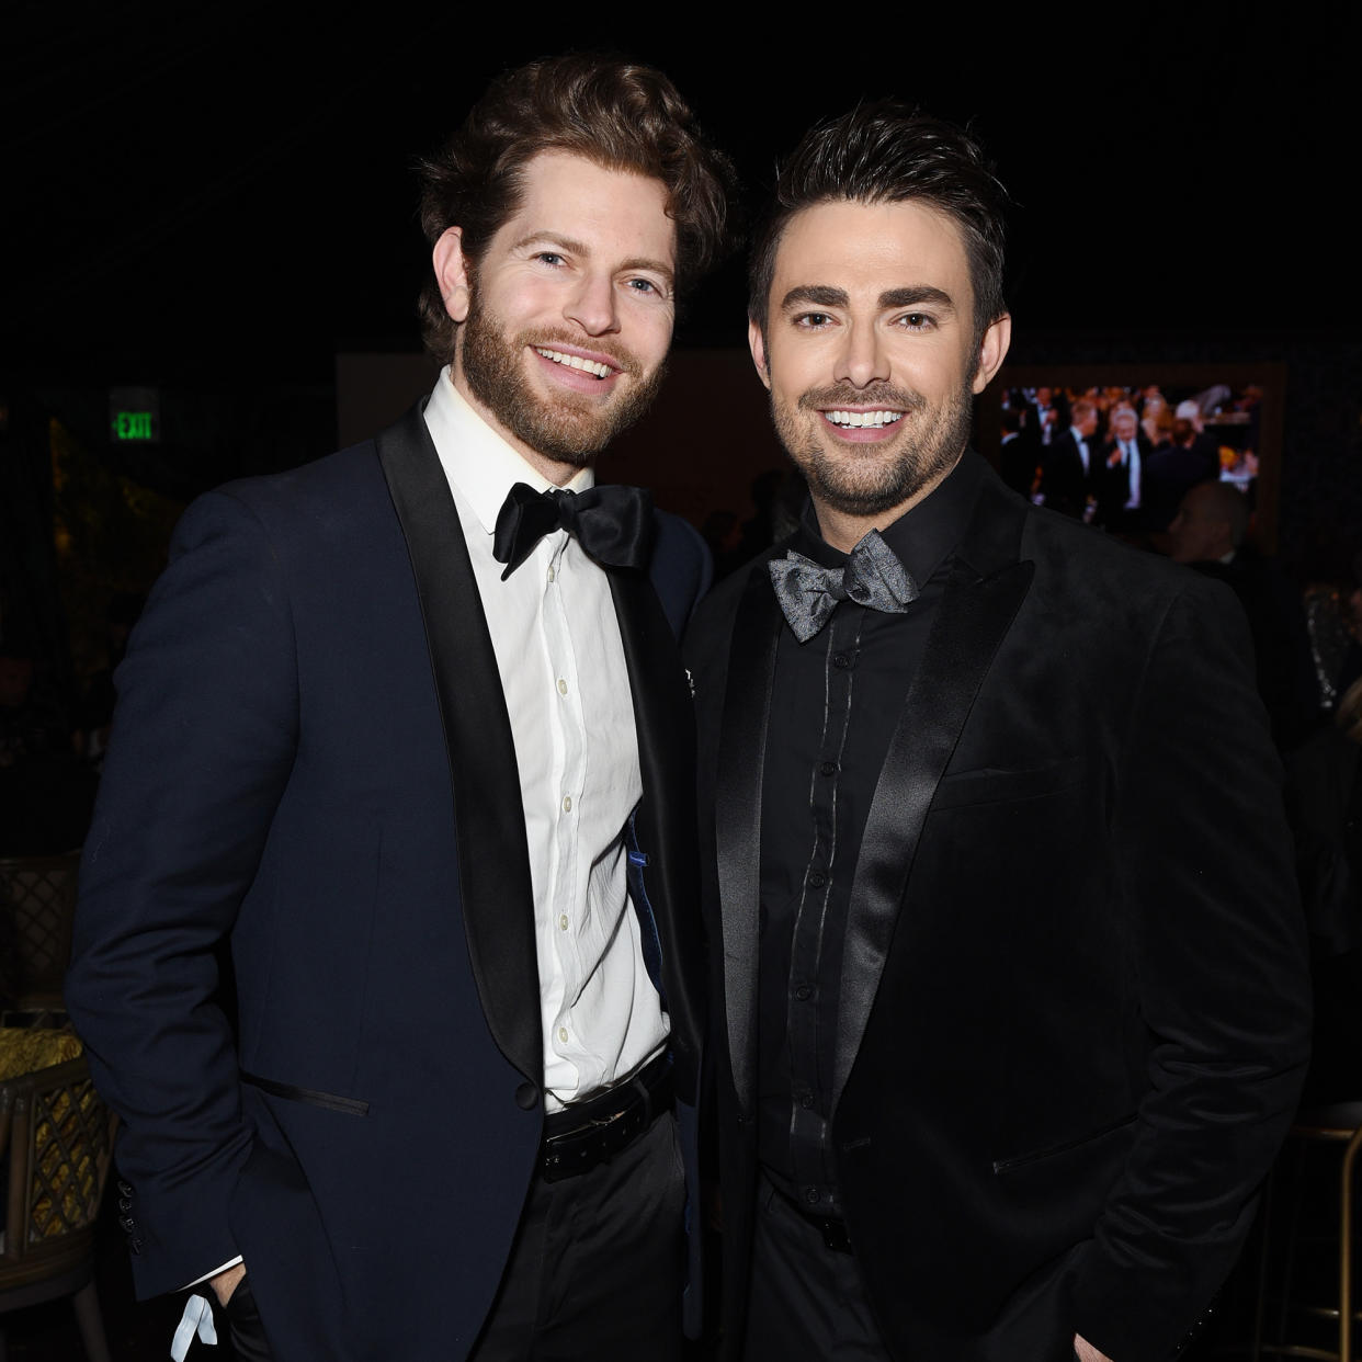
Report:
[[[139,1297],[237,1253],[227,1207],[251,1132],[219,959],[296,750],[282,583],[256,516],[202,498],[118,670],[67,1001],[121,1118]]]

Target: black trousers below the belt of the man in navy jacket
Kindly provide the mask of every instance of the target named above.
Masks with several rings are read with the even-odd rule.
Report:
[[[590,1173],[535,1179],[471,1362],[677,1362],[684,1214],[671,1113]]]

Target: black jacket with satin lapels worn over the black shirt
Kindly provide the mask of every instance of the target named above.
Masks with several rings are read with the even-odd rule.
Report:
[[[783,627],[759,561],[686,644],[735,1340]],[[1079,1332],[1173,1357],[1294,1110],[1303,962],[1234,602],[985,471],[865,827],[840,987],[832,1140],[893,1355],[1071,1362]]]

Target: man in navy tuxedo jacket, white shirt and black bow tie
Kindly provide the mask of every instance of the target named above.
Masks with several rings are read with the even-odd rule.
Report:
[[[68,1000],[140,1295],[207,1279],[281,1362],[674,1358],[706,560],[663,526],[669,618],[647,498],[591,462],[722,245],[726,166],[663,75],[571,56],[500,78],[424,181],[447,368],[185,513]]]

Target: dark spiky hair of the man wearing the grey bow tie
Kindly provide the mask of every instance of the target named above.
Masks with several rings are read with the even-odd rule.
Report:
[[[1008,192],[970,133],[895,99],[859,104],[810,128],[780,165],[748,267],[748,315],[765,330],[780,237],[819,203],[917,200],[960,229],[974,289],[974,347],[1007,312],[1002,266]]]

